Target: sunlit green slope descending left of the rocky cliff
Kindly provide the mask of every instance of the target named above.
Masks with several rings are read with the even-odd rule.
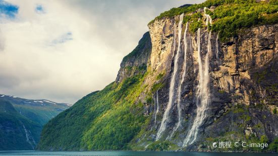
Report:
[[[45,125],[39,149],[129,149],[145,121],[142,104],[134,104],[143,80],[135,75],[82,98]]]

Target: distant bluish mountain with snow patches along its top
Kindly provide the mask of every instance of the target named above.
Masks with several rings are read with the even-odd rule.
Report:
[[[0,150],[33,150],[43,125],[71,105],[0,95]]]

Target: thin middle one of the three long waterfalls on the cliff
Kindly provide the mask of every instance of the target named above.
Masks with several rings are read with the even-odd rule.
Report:
[[[177,107],[178,107],[178,118],[179,118],[179,121],[177,123],[177,125],[175,126],[172,134],[170,135],[170,138],[172,138],[173,134],[177,131],[177,129],[180,127],[181,125],[181,120],[182,120],[182,109],[181,109],[181,96],[182,96],[182,84],[185,80],[185,74],[186,74],[186,56],[187,56],[187,30],[188,30],[188,22],[186,23],[186,27],[185,27],[185,31],[184,31],[184,72],[183,72],[183,75],[182,75],[182,80],[180,81],[180,84],[179,84],[179,88],[178,88],[178,104],[177,104]]]

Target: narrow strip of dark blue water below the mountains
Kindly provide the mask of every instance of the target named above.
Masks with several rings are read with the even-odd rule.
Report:
[[[53,155],[53,156],[62,156],[62,155],[76,155],[76,156],[86,156],[86,155],[100,155],[100,156],[112,156],[112,155],[147,155],[147,156],[277,156],[277,153],[220,153],[220,152],[166,152],[166,151],[0,151],[0,155]]]

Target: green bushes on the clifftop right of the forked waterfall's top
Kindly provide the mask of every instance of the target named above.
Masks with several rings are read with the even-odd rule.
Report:
[[[219,32],[221,41],[236,36],[242,28],[250,28],[258,24],[275,24],[278,22],[277,15],[275,15],[278,11],[277,5],[264,2],[255,3],[254,1],[240,2],[235,1],[231,5],[219,6],[211,15],[212,19],[215,20],[211,30]]]

